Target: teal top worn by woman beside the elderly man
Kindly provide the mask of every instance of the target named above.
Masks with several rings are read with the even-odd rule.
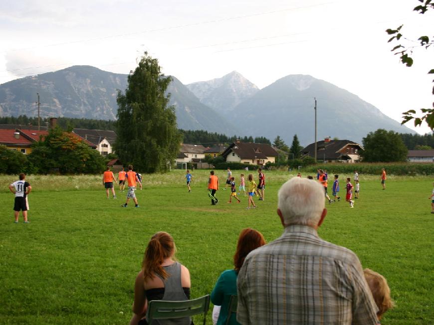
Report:
[[[226,324],[227,311],[229,309],[229,300],[231,295],[236,295],[236,278],[235,270],[223,271],[218,277],[216,286],[211,293],[211,302],[216,306],[221,306],[218,315],[217,325]],[[236,314],[232,313],[229,324],[238,325]]]

